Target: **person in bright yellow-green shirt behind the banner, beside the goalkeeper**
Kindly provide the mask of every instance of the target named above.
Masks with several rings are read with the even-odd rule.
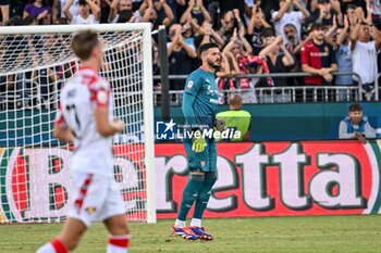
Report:
[[[220,112],[216,115],[217,119],[224,121],[228,128],[241,132],[239,138],[230,139],[230,141],[249,141],[251,115],[242,110],[242,97],[234,93],[229,100],[229,111]]]

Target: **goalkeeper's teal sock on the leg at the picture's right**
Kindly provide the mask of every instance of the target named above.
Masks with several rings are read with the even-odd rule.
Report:
[[[213,187],[216,180],[217,180],[216,173],[205,174],[204,185],[196,200],[195,213],[193,214],[194,218],[196,219],[202,218],[204,211],[206,210],[209,202],[211,188]]]

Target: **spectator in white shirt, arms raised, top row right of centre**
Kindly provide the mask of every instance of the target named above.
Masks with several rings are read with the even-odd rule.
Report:
[[[294,7],[299,11],[294,11]],[[283,40],[286,40],[284,26],[293,24],[296,27],[297,35],[302,35],[302,24],[309,16],[309,12],[304,8],[298,0],[281,0],[280,10],[272,13],[272,20],[276,35],[282,35]]]

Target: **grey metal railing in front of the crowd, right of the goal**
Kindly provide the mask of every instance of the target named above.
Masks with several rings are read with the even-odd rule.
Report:
[[[336,72],[333,75],[352,75],[358,78],[358,86],[291,86],[291,87],[265,87],[235,90],[221,90],[220,103],[229,102],[229,94],[239,92],[244,103],[295,103],[295,102],[341,102],[361,101],[366,91],[362,89],[361,79],[358,74],[352,72]],[[274,73],[274,74],[249,74],[228,76],[226,78],[267,78],[267,77],[307,77],[314,76],[308,73]],[[153,76],[159,79],[160,76]],[[186,79],[187,75],[170,75],[169,79]],[[160,91],[153,92],[155,104],[159,105],[162,97]],[[171,105],[180,105],[182,90],[170,91]]]

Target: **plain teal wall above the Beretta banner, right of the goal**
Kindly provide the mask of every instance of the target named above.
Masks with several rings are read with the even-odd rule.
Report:
[[[304,104],[244,104],[243,110],[251,114],[250,141],[280,140],[335,140],[339,124],[347,116],[351,103]],[[381,103],[361,103],[364,115],[374,128],[381,128]],[[219,111],[229,110],[226,105]],[[180,106],[171,107],[174,122],[182,123]],[[161,109],[155,109],[156,121],[161,119]],[[381,137],[381,136],[380,136]]]

